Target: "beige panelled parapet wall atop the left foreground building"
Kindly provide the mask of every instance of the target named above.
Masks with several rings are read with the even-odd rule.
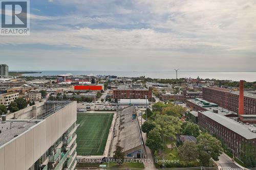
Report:
[[[1,170],[27,170],[76,122],[76,102],[0,147]]]

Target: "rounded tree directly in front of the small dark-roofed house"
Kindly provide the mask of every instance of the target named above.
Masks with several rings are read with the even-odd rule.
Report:
[[[193,141],[185,141],[183,145],[179,147],[179,156],[184,160],[194,160],[199,157],[197,143]]]

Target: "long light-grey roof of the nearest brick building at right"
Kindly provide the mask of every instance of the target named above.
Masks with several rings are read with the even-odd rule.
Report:
[[[243,136],[246,139],[256,138],[256,133],[253,133],[249,130],[249,125],[243,125],[241,123],[238,123],[234,119],[228,118],[220,114],[212,113],[210,111],[200,111],[200,113],[221,124],[222,126],[230,129],[231,131],[236,132],[237,134]]]

